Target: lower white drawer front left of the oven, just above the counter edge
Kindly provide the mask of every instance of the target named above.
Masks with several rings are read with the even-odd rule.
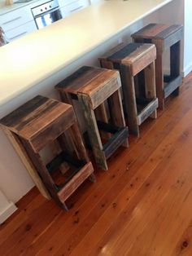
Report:
[[[34,21],[29,21],[26,24],[21,25],[18,28],[11,29],[6,32],[6,37],[8,41],[13,41],[17,38],[21,38],[27,33],[33,32],[34,30],[37,30],[37,26]]]

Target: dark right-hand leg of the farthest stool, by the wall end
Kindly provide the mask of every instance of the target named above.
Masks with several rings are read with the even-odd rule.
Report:
[[[170,48],[170,65],[171,65],[171,77],[176,78],[180,76],[180,51],[181,42],[177,42]],[[179,86],[172,92],[172,95],[179,95]]]

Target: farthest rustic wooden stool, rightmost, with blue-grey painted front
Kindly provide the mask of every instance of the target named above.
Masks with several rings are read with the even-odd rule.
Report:
[[[180,75],[180,48],[183,38],[182,25],[148,24],[145,28],[133,33],[135,42],[152,42],[157,48],[155,62],[156,91],[159,108],[164,109],[164,99],[168,95],[178,95],[182,78]],[[170,75],[164,75],[163,53],[170,49]]]

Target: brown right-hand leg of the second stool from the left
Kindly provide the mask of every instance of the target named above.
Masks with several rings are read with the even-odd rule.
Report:
[[[114,94],[109,97],[110,102],[110,113],[111,113],[111,120],[115,126],[124,127],[124,111],[123,111],[123,104],[120,95],[120,89],[116,90]],[[128,139],[126,139],[123,143],[125,148],[129,147]]]

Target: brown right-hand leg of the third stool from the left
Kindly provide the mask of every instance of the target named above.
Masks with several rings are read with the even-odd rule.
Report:
[[[146,86],[146,98],[154,99],[156,97],[155,89],[155,62],[149,64],[148,67],[144,69],[145,73],[145,86]],[[157,118],[157,110],[151,114],[151,118]]]

